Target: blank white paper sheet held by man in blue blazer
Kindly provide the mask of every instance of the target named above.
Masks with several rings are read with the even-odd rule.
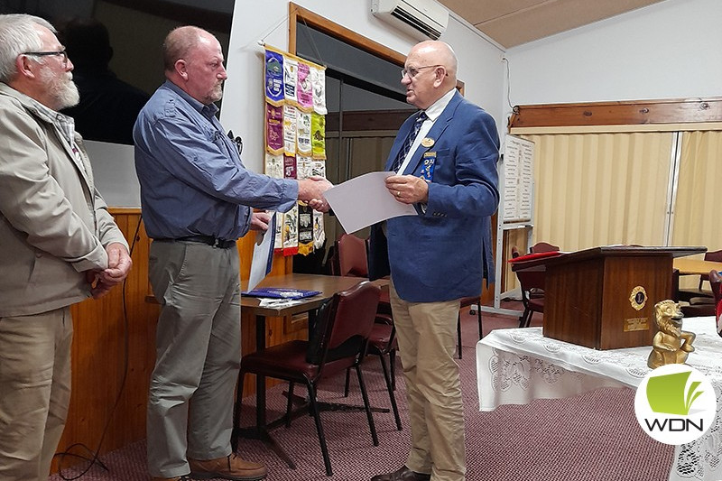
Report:
[[[415,216],[411,204],[393,198],[384,180],[394,172],[369,172],[324,192],[333,212],[347,234],[391,217]]]

